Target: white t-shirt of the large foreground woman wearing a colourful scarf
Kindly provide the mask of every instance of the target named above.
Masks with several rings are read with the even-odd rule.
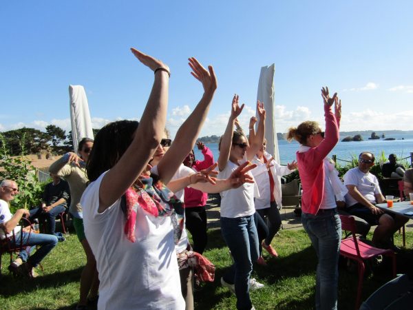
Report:
[[[98,213],[99,178],[81,198],[87,241],[99,272],[98,309],[185,309],[171,218],[138,207],[136,242],[124,233],[120,198]]]

